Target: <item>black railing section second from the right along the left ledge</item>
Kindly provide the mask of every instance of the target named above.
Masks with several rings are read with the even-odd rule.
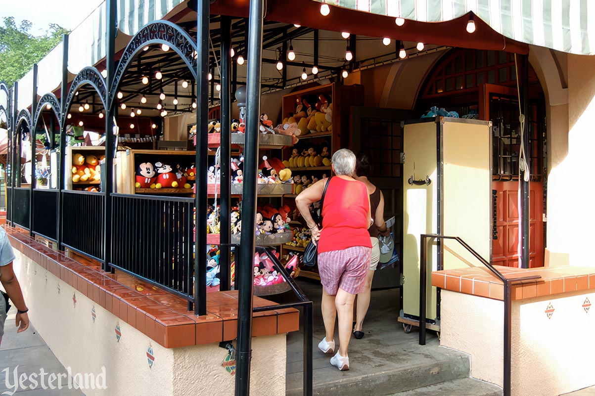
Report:
[[[62,191],[62,245],[104,260],[104,200],[102,193]]]

